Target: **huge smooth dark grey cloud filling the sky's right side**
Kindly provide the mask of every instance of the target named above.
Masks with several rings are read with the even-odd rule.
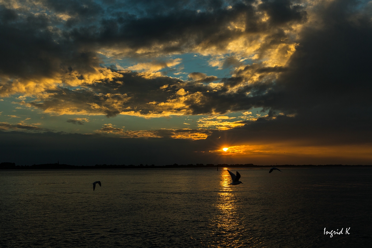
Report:
[[[252,97],[232,94],[231,98],[221,99],[231,109],[244,109],[251,104],[269,110],[268,117],[225,131],[230,139],[371,144],[371,13],[366,14],[350,1],[334,1],[318,15],[323,25],[308,27],[301,33],[296,52],[285,68],[258,69],[281,72],[276,80],[259,81],[244,88],[255,92]],[[244,70],[247,69],[250,68]],[[228,85],[234,83],[238,82],[227,81]],[[212,99],[221,97],[220,93],[212,94]],[[236,99],[236,104],[232,99]],[[223,110],[219,101],[211,102],[200,107],[217,106]],[[285,115],[278,115],[280,112]]]

